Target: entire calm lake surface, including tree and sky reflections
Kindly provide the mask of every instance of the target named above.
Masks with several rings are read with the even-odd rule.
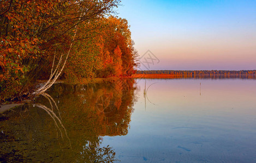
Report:
[[[256,162],[255,79],[55,84],[0,115],[0,162]]]

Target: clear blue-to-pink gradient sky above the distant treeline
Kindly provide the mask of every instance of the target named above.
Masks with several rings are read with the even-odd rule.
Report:
[[[256,70],[255,0],[121,4],[117,16],[129,22],[141,70]]]

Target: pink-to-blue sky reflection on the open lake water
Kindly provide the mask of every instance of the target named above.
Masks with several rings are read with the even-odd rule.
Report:
[[[128,134],[104,137],[117,159],[256,161],[255,80],[138,79],[138,87]]]

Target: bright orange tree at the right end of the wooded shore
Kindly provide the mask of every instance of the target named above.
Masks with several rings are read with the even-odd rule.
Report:
[[[108,74],[107,76],[130,76],[135,73],[134,69],[137,65],[135,59],[138,57],[138,53],[131,39],[128,22],[126,19],[110,16],[106,18],[106,23],[109,28],[106,29],[107,32],[104,35],[104,49],[102,54],[104,67],[100,72],[103,76],[106,76],[106,74]],[[122,61],[118,60],[119,55],[116,55],[119,49],[121,52],[118,53],[121,54]],[[112,64],[109,64],[107,61],[109,57],[106,54],[114,59]],[[120,64],[122,65],[122,72],[116,74],[116,70],[121,70],[118,67]]]

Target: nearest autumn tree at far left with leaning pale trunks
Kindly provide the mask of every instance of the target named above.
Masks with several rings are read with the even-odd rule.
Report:
[[[41,90],[51,86],[61,75],[69,54],[75,53],[75,42],[84,37],[75,35],[86,33],[81,24],[104,17],[119,3],[119,0],[1,1],[1,99],[21,94],[43,69],[49,71],[51,80]]]

